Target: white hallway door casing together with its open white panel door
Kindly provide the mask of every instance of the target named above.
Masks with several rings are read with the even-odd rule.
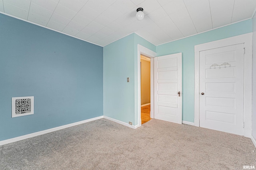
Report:
[[[154,51],[138,45],[138,91],[135,90],[135,107],[138,108],[138,127],[142,123],[140,92],[141,55],[150,58],[150,118],[181,124],[182,53],[156,57]]]

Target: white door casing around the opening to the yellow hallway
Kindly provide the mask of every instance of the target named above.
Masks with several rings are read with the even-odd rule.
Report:
[[[150,118],[154,118],[154,57],[156,57],[156,52],[138,44],[138,127],[141,126],[141,94],[140,94],[140,55],[144,55],[150,58]],[[136,86],[136,84],[135,84]],[[135,100],[136,101],[136,100]],[[135,104],[136,106],[136,104]]]

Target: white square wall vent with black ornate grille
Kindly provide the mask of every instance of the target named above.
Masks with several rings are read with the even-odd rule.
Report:
[[[34,96],[12,98],[12,117],[34,114]]]

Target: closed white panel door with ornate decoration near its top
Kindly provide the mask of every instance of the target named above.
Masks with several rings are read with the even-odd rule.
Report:
[[[200,51],[200,127],[244,135],[244,44]]]

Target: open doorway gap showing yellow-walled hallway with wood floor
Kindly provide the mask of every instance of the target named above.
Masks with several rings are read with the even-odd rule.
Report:
[[[150,58],[140,55],[141,124],[150,121]]]

